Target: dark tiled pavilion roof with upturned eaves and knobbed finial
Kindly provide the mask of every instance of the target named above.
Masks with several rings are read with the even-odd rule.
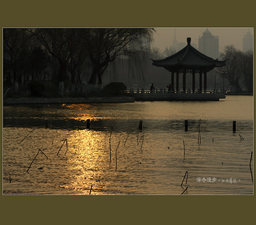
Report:
[[[177,53],[166,57],[165,59],[154,60],[152,65],[170,69],[213,69],[214,67],[225,66],[224,61],[212,59],[207,55],[202,54],[197,49],[190,45],[191,38],[187,38],[187,46]]]

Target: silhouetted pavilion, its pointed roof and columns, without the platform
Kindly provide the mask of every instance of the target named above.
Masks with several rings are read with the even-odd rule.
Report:
[[[207,72],[214,67],[225,66],[225,61],[212,59],[190,45],[191,38],[187,38],[187,46],[179,52],[160,60],[154,60],[152,65],[167,69],[172,73],[171,84],[174,91],[174,73],[176,73],[176,91],[179,89],[179,74],[183,73],[183,92],[186,91],[186,73],[192,73],[192,92],[195,91],[195,73],[199,73],[199,91],[202,92],[202,73],[204,74],[204,91],[207,89]]]

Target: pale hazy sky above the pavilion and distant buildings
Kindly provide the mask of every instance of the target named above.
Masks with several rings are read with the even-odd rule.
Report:
[[[166,47],[172,45],[174,38],[174,28],[155,28],[155,41],[153,47],[163,51]],[[187,38],[191,38],[191,43],[196,43],[198,48],[198,38],[202,36],[206,28],[176,28],[177,42],[187,43]],[[225,45],[234,44],[235,48],[243,50],[243,36],[247,33],[248,28],[208,28],[213,36],[219,36],[219,52]],[[249,28],[253,35],[253,28]]]

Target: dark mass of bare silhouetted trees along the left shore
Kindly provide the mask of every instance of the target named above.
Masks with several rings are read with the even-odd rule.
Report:
[[[84,71],[90,71],[89,84],[102,84],[104,71],[115,59],[140,60],[148,53],[153,32],[153,28],[3,28],[4,85],[44,80],[43,71],[49,66],[56,84],[81,84]]]

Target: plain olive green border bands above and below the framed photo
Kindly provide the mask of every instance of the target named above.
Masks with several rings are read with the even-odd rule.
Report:
[[[2,27],[253,27],[251,1],[4,1]],[[242,5],[243,4],[243,5]],[[254,196],[1,197],[5,224],[246,223]]]

